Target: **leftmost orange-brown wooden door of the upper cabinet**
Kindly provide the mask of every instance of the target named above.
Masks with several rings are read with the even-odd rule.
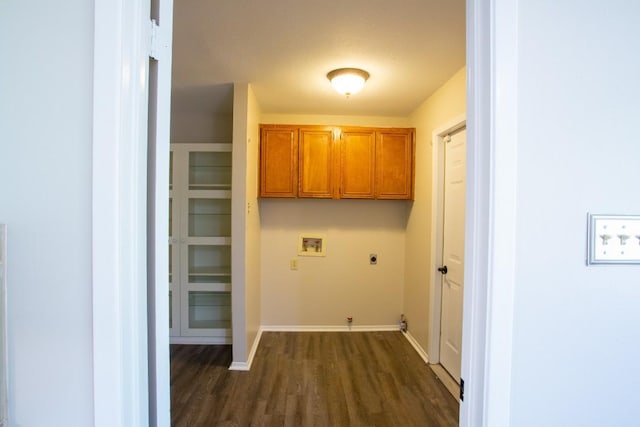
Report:
[[[263,127],[260,136],[260,197],[296,197],[298,131]]]

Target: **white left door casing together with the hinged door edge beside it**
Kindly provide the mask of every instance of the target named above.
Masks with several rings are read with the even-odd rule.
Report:
[[[152,26],[157,14],[160,26]],[[166,281],[171,0],[96,0],[94,425],[169,426]],[[154,58],[153,60],[150,57]],[[153,89],[150,96],[150,85]],[[162,241],[162,245],[155,242]],[[159,285],[158,285],[159,284]]]

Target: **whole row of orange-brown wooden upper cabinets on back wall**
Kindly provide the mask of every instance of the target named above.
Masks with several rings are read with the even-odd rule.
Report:
[[[413,199],[415,130],[260,126],[260,197]]]

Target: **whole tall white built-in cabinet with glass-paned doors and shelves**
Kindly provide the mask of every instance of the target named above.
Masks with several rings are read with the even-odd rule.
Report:
[[[231,340],[231,144],[173,144],[170,330],[174,343]]]

